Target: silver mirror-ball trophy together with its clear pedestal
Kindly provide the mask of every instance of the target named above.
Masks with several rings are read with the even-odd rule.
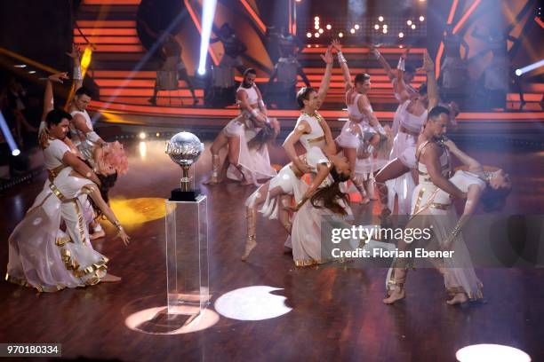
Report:
[[[209,303],[206,196],[195,190],[194,168],[204,144],[189,132],[174,135],[165,153],[180,165],[180,188],[166,201],[168,313],[197,315]],[[192,320],[192,319],[191,319]]]

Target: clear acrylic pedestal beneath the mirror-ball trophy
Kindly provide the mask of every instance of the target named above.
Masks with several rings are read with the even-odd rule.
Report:
[[[210,301],[207,199],[166,201],[168,314],[198,315]]]

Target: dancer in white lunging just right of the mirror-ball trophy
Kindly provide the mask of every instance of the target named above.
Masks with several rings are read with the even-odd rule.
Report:
[[[204,185],[219,184],[225,176],[259,185],[258,180],[276,176],[266,144],[276,138],[280,125],[275,118],[267,117],[267,109],[255,85],[256,76],[252,68],[244,72],[244,81],[236,91],[241,114],[228,122],[213,141],[212,177]],[[228,156],[221,168],[220,150],[226,146]]]

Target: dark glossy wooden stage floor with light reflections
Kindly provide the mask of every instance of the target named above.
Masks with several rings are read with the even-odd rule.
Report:
[[[199,179],[210,169],[208,147],[206,143],[206,153],[196,165]],[[484,164],[500,165],[512,175],[514,189],[505,211],[542,213],[544,153],[506,145],[463,147]],[[154,328],[155,334],[127,327],[138,322],[142,311],[166,303],[163,207],[164,198],[178,185],[180,168],[164,155],[164,140],[132,141],[126,148],[129,174],[118,180],[110,196],[132,243],[124,248],[113,240],[109,224],[108,237],[93,242],[110,258],[109,271],[123,280],[53,294],[0,283],[0,342],[59,342],[63,358],[126,361],[453,361],[461,347],[498,343],[524,350],[533,361],[544,360],[544,271],[477,270],[487,303],[463,307],[445,303],[438,273],[415,271],[405,301],[387,306],[381,302],[386,270],[297,269],[292,256],[283,252],[286,235],[275,221],[258,218],[259,245],[248,263],[241,262],[244,200],[254,188],[236,184],[202,188],[209,197],[212,304],[205,321],[210,326],[192,333]],[[271,157],[273,163],[286,161],[279,146]],[[43,185],[44,175],[2,194],[0,262],[4,267],[8,236]],[[364,208],[379,210],[377,204],[357,205],[354,212]],[[251,300],[238,299],[231,311],[284,314],[237,320],[216,310],[214,303],[221,295],[256,286],[277,290],[263,294],[265,287],[256,288],[266,303],[251,308]],[[286,298],[288,308],[279,296]]]

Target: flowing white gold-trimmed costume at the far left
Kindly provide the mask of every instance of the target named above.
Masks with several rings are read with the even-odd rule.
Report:
[[[44,150],[50,166],[68,152],[60,140]],[[60,158],[59,158],[60,156]],[[9,261],[6,279],[54,292],[65,287],[84,287],[100,282],[106,275],[108,258],[92,248],[82,199],[85,185],[92,181],[71,176],[72,169],[61,169],[52,182],[47,181],[32,208],[8,240]],[[60,231],[64,221],[66,232]]]

